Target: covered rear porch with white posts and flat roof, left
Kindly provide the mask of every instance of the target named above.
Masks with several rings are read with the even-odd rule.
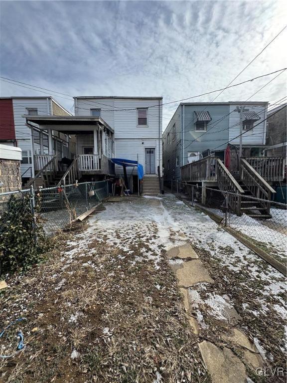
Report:
[[[34,177],[26,186],[37,182],[43,186],[73,183],[81,178],[103,179],[115,174],[114,130],[100,117],[87,116],[24,116],[32,130],[47,135],[46,145],[40,140],[37,150],[33,147],[32,167]],[[35,126],[34,124],[37,124]],[[76,137],[76,153],[67,154],[55,149],[53,135],[60,132]]]

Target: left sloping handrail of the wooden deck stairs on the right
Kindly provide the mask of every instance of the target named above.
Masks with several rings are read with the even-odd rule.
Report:
[[[231,192],[228,196],[228,204],[232,210],[237,214],[241,215],[241,198],[244,194],[244,190],[237,183],[235,178],[225,167],[222,161],[217,158],[217,184],[220,190],[224,192]]]

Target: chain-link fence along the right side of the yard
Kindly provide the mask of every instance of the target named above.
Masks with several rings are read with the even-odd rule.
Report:
[[[287,204],[179,181],[165,187],[286,263]]]

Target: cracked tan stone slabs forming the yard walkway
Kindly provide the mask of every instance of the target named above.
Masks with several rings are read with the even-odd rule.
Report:
[[[183,303],[189,323],[194,334],[200,333],[200,326],[194,317],[193,305],[196,301],[189,293],[189,289],[195,288],[198,283],[213,284],[214,280],[210,277],[208,270],[200,261],[197,253],[188,243],[176,246],[167,251],[168,259],[183,260],[182,263],[171,263],[177,279],[178,286],[183,295]],[[226,317],[232,319],[234,323],[240,319],[240,315],[235,308],[226,304],[223,307]],[[238,328],[234,327],[232,335],[227,337],[234,346],[241,349],[247,363],[251,368],[258,369],[263,366],[263,360],[254,343],[252,343],[246,334]],[[211,342],[203,341],[198,344],[202,359],[207,370],[210,373],[212,382],[214,383],[242,383],[247,379],[247,372],[244,364],[240,359],[228,348],[221,350]]]

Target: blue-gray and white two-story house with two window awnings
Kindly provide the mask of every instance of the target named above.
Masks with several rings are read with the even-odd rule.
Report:
[[[180,180],[180,168],[210,152],[224,163],[227,142],[239,144],[240,113],[243,115],[244,147],[263,147],[266,140],[268,102],[181,103],[162,135],[164,180]],[[252,116],[252,117],[250,117]],[[253,125],[256,125],[253,129]],[[251,128],[251,130],[250,130]]]

